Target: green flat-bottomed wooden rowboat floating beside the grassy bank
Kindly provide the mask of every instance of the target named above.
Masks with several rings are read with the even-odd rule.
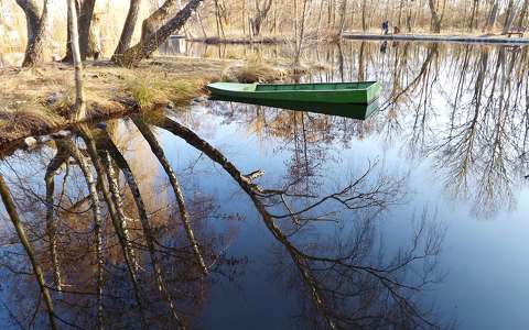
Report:
[[[213,97],[251,101],[315,102],[325,105],[369,105],[378,98],[377,81],[324,84],[236,84],[207,85]]]

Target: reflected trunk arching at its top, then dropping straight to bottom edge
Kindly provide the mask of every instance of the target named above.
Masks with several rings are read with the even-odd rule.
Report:
[[[98,328],[102,329],[105,321],[104,321],[104,314],[102,314],[102,286],[104,286],[104,278],[102,278],[102,266],[105,264],[104,255],[102,255],[102,218],[101,218],[101,209],[99,206],[99,196],[97,195],[96,183],[94,180],[94,176],[91,174],[91,169],[88,166],[83,154],[78,151],[78,148],[71,142],[71,141],[57,141],[57,146],[62,146],[62,148],[67,150],[68,154],[72,154],[74,160],[80,167],[83,172],[83,176],[85,177],[86,186],[88,187],[88,193],[90,196],[91,201],[91,211],[94,215],[94,241],[96,246],[96,261],[97,261],[97,322]]]

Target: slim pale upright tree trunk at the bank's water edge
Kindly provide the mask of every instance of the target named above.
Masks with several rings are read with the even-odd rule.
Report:
[[[75,106],[74,119],[79,121],[86,118],[86,103],[83,90],[83,62],[79,51],[79,35],[77,28],[77,13],[75,10],[75,0],[68,1],[68,31],[71,35],[72,56],[74,58],[75,69]]]

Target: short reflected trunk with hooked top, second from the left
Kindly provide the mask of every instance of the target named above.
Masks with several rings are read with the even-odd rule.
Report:
[[[58,146],[58,145],[57,145]],[[50,238],[50,256],[52,260],[52,267],[53,267],[53,280],[57,290],[62,290],[62,282],[61,282],[61,267],[58,263],[58,255],[57,255],[57,238],[56,238],[56,221],[55,221],[55,205],[53,201],[54,190],[55,190],[55,183],[54,176],[55,172],[64,164],[69,157],[67,151],[62,147],[58,147],[57,154],[53,160],[50,162],[46,168],[46,173],[44,175],[44,183],[46,185],[46,231],[47,237]]]

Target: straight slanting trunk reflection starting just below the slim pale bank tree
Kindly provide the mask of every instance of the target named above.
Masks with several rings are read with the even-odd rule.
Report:
[[[110,219],[112,220],[112,226],[116,231],[116,234],[118,237],[119,244],[121,245],[121,250],[123,251],[123,257],[127,264],[127,270],[129,272],[130,278],[132,280],[132,286],[134,290],[134,298],[138,304],[138,308],[140,309],[140,315],[141,315],[141,321],[143,323],[143,327],[145,327],[145,320],[144,320],[144,311],[143,311],[143,304],[141,302],[141,292],[140,292],[140,286],[138,284],[138,279],[134,273],[134,270],[132,267],[132,260],[130,258],[130,253],[128,252],[128,243],[127,240],[125,239],[125,235],[122,233],[121,226],[119,223],[119,217],[118,212],[116,210],[116,206],[112,201],[112,198],[109,193],[108,188],[108,183],[105,180],[106,177],[106,172],[105,168],[101,164],[101,161],[99,158],[99,155],[97,153],[97,147],[96,143],[94,142],[94,139],[91,138],[91,133],[89,132],[88,129],[85,127],[80,125],[79,127],[79,133],[86,144],[86,148],[88,151],[88,154],[90,156],[91,163],[94,164],[94,167],[96,168],[97,173],[97,186],[101,190],[101,195],[105,198],[105,202],[107,204],[108,212],[110,215]]]

